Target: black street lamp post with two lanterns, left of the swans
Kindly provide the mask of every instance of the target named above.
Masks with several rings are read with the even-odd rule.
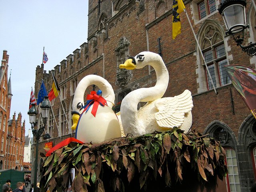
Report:
[[[37,184],[38,142],[46,126],[47,118],[49,117],[50,109],[51,109],[48,96],[44,96],[44,100],[40,107],[42,109],[43,126],[41,126],[39,129],[34,129],[34,126],[36,125],[36,115],[38,114],[38,112],[36,111],[35,104],[32,104],[32,107],[28,111],[29,122],[32,128],[32,134],[36,138],[36,158],[35,158],[35,164],[34,164],[34,188],[36,188],[36,184]]]

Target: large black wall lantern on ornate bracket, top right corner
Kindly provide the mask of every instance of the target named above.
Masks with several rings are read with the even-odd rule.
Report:
[[[249,25],[246,25],[245,7],[245,0],[222,0],[218,10],[224,20],[227,29],[226,34],[233,36],[237,46],[240,46],[242,51],[247,52],[249,56],[254,56],[256,54],[256,43],[250,42],[247,46],[242,45],[244,29],[249,28]],[[234,36],[238,32],[242,32],[242,38],[240,38],[240,35]]]

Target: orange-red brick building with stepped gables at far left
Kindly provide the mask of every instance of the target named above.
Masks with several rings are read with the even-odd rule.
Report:
[[[10,120],[10,109],[12,101],[11,78],[8,80],[7,51],[3,51],[0,70],[0,170],[21,170],[23,166],[25,121],[22,123],[22,115],[16,113]],[[8,81],[7,81],[8,80]]]

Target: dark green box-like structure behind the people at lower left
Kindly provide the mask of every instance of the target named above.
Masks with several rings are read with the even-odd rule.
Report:
[[[6,183],[6,180],[11,180],[11,188],[16,189],[16,183],[24,182],[24,172],[18,171],[15,169],[6,169],[0,170],[0,190],[2,191],[3,184]]]

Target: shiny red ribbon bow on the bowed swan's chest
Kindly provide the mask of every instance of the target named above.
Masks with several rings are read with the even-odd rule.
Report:
[[[96,91],[92,91],[91,94],[88,94],[86,99],[92,100],[92,101],[88,104],[88,106],[86,106],[84,110],[87,110],[87,108],[93,104],[91,113],[94,117],[96,117],[96,112],[98,110],[99,104],[101,104],[102,106],[105,106],[105,105],[108,106],[107,101],[102,96],[98,96],[96,94]]]

